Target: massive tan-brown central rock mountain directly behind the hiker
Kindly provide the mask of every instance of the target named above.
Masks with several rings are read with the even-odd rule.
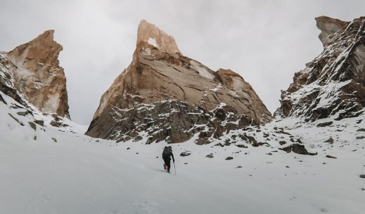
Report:
[[[220,111],[224,115],[220,116]],[[241,127],[240,123],[259,125],[271,120],[271,113],[239,74],[224,69],[212,71],[183,56],[172,36],[142,20],[133,60],[101,97],[86,134],[125,141],[135,137],[131,132],[144,131],[149,136],[147,143],[184,142],[203,129],[192,127],[207,125],[213,118],[224,121],[227,112],[236,119],[234,128]],[[159,116],[169,113],[163,119]],[[158,127],[150,130],[148,124]],[[233,128],[218,124],[208,125],[215,130],[209,128],[209,134],[201,138]],[[163,130],[156,134],[159,128]]]

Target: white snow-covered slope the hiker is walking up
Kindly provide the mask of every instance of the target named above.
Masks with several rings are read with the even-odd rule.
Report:
[[[14,102],[1,95],[7,103]],[[365,135],[357,131],[365,128],[364,115],[360,123],[351,118],[327,127],[291,118],[261,126],[263,132],[286,127],[302,138],[310,152],[318,152],[316,156],[266,146],[172,144],[175,175],[173,165],[171,174],[163,169],[166,143],[93,139],[83,135],[85,126],[65,119],[70,127],[53,127],[50,116],[41,114],[35,118],[45,120],[45,127],[37,125],[35,131],[27,123],[32,117],[18,111],[0,102],[1,214],[361,214],[365,210],[361,190],[365,178],[359,177],[365,174],[365,140],[356,140]],[[329,137],[333,144],[324,143]],[[192,154],[180,157],[183,151]],[[269,152],[273,155],[266,155]],[[214,158],[206,158],[208,154]],[[225,160],[228,156],[234,159]]]

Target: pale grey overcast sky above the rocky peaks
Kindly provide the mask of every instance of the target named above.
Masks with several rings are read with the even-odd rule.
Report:
[[[130,63],[141,19],[184,55],[241,74],[273,112],[294,72],[323,50],[314,18],[365,16],[365,0],[0,0],[0,15],[1,51],[55,30],[71,118],[88,125]]]

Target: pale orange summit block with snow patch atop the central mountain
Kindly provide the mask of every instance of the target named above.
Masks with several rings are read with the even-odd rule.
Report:
[[[148,45],[146,46],[146,44]],[[148,46],[152,46],[151,48],[156,48],[161,52],[181,54],[174,37],[142,19],[138,25],[137,51],[141,51]]]

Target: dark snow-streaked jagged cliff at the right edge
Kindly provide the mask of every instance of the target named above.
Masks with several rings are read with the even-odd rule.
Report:
[[[277,113],[306,120],[356,117],[365,107],[365,17],[318,17],[324,50],[296,72]]]

